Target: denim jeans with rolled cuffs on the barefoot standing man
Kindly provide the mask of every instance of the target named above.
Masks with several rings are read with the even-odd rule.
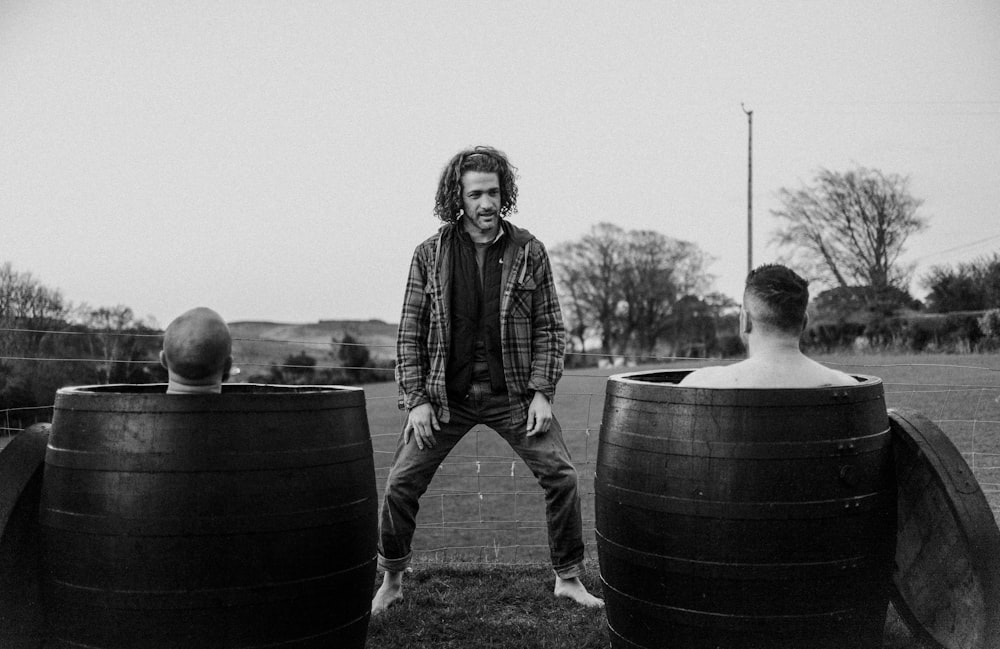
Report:
[[[462,437],[476,424],[485,424],[510,444],[545,491],[549,552],[556,574],[563,579],[583,574],[577,474],[555,417],[548,432],[528,437],[526,421],[511,422],[507,393],[493,393],[488,383],[474,383],[466,399],[448,405],[451,421],[434,432],[437,443],[433,448],[424,445],[420,450],[412,436],[409,444],[403,444],[403,435],[399,436],[379,519],[379,567],[398,572],[409,564],[420,496]]]

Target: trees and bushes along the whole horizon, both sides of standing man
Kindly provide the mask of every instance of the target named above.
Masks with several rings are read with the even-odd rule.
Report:
[[[906,242],[928,221],[907,178],[864,167],[824,169],[811,183],[781,189],[778,198],[780,206],[772,211],[779,223],[772,241],[781,251],[777,261],[813,285],[806,345],[832,351],[865,339],[873,347],[911,350],[1000,346],[1000,254],[934,266],[920,279],[929,291],[926,302],[910,294],[914,265],[901,259]],[[692,242],[598,223],[581,238],[553,247],[551,259],[570,366],[586,362],[584,352],[639,360],[744,352],[738,305],[713,290],[707,273],[713,259]],[[59,291],[5,263],[0,409],[51,404],[63,385],[164,381],[156,362],[161,335],[126,306],[74,307]],[[352,337],[331,344],[327,355],[342,367],[320,368],[314,356],[301,352],[250,379],[388,378],[389,365],[376,367]]]

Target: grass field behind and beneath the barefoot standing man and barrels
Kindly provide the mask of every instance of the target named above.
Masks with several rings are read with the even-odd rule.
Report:
[[[1000,356],[845,355],[818,360],[880,377],[889,408],[924,414],[949,436],[1000,512]],[[697,367],[704,362],[660,364]],[[593,476],[607,376],[643,368],[567,372],[555,413],[580,473],[590,574],[601,592],[593,537]],[[381,492],[402,416],[391,383],[365,388]],[[372,624],[368,646],[607,647],[603,612],[551,596],[540,489],[495,433],[477,428],[421,500],[407,600]],[[885,647],[923,649],[890,610]]]

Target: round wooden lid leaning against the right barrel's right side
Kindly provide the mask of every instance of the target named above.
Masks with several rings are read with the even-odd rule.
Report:
[[[1000,529],[986,494],[930,419],[893,409],[889,427],[899,493],[893,604],[922,646],[997,649]]]

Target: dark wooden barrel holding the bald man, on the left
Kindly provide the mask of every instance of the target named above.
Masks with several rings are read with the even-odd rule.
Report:
[[[377,496],[360,388],[56,395],[50,647],[364,646]]]

